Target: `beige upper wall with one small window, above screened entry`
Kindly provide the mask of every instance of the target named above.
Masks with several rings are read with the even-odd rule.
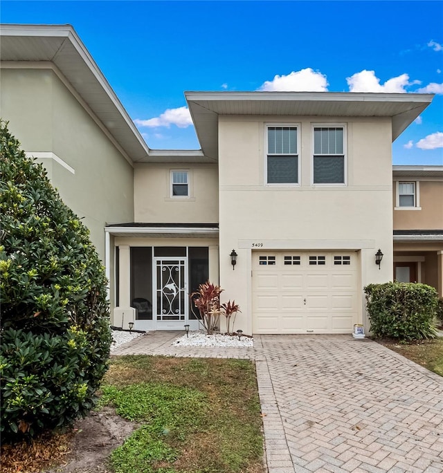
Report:
[[[188,171],[190,196],[171,196],[171,171]],[[134,214],[141,223],[217,223],[217,165],[139,164],[134,169]]]

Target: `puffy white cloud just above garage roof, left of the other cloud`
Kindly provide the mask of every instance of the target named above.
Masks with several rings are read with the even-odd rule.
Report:
[[[273,80],[266,80],[259,91],[287,91],[287,92],[326,92],[327,78],[310,67],[300,71],[292,71],[288,75],[275,75]]]

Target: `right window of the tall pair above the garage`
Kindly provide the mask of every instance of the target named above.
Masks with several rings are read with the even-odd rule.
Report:
[[[314,127],[314,184],[345,184],[345,128]]]

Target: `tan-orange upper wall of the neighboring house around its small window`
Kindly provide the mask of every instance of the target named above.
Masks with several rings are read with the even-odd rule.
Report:
[[[417,210],[394,210],[394,230],[442,230],[443,229],[443,181],[401,178],[401,182],[416,182],[419,188]],[[392,189],[393,204],[396,202],[397,178]]]

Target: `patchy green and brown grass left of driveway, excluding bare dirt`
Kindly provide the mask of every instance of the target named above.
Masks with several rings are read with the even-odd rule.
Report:
[[[252,362],[114,358],[100,402],[141,423],[111,454],[116,473],[264,472]]]

